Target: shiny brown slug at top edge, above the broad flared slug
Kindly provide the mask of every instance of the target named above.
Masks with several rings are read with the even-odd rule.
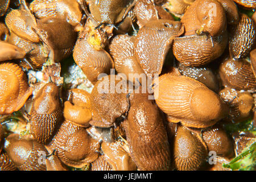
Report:
[[[161,6],[155,5],[154,1],[151,0],[137,1],[134,6],[134,13],[137,18],[137,24],[140,28],[151,20],[174,20],[170,13],[164,10]]]

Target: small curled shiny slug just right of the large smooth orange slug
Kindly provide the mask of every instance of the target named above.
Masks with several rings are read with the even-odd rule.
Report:
[[[254,106],[254,98],[249,92],[224,88],[220,91],[220,97],[229,106],[229,115],[232,122],[245,121],[251,117]]]

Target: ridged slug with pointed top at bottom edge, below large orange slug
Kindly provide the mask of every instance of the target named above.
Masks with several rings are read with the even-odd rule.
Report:
[[[200,137],[184,126],[177,127],[173,141],[174,166],[179,171],[194,171],[206,162],[207,148]]]

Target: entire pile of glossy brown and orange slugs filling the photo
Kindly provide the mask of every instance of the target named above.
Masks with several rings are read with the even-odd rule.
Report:
[[[224,125],[256,119],[256,13],[238,9],[256,1],[1,1],[0,170],[226,170]],[[70,57],[91,92],[64,86]]]

